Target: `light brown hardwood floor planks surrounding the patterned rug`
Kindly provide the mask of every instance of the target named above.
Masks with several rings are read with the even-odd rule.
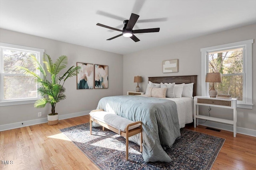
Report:
[[[1,170],[98,170],[59,129],[89,122],[89,116],[60,120],[0,132]],[[212,131],[204,126],[186,128],[225,138],[212,170],[255,170],[256,137]],[[8,162],[7,162],[8,161]],[[8,164],[7,164],[8,163]]]

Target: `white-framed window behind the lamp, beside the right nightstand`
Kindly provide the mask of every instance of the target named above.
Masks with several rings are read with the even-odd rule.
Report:
[[[208,72],[222,73],[222,83],[214,83],[218,94],[231,94],[238,107],[252,109],[253,39],[201,49],[202,96],[209,96],[212,84],[205,82]]]

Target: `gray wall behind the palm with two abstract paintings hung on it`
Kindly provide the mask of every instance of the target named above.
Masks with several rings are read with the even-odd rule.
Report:
[[[123,55],[6,29],[0,29],[0,42],[45,49],[45,53],[50,55],[53,61],[60,55],[66,55],[69,59],[69,67],[76,65],[76,62],[108,65],[108,89],[77,90],[76,77],[66,80],[64,87],[67,98],[56,105],[56,111],[60,115],[96,109],[100,98],[123,93]],[[37,115],[40,111],[42,111],[42,117]],[[43,109],[36,109],[33,104],[2,106],[0,107],[0,125],[45,118],[49,113],[50,105]]]

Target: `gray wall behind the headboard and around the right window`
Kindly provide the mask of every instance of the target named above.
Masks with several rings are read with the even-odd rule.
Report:
[[[256,130],[256,24],[230,29],[170,45],[147,49],[136,53],[124,55],[124,91],[135,91],[134,76],[142,76],[140,83],[141,92],[145,92],[149,76],[178,76],[198,75],[197,95],[201,95],[201,48],[212,47],[237,41],[254,39],[253,43],[253,109],[238,108],[237,126]],[[179,68],[176,73],[163,73],[162,62],[165,60],[179,59]],[[207,109],[208,113],[208,109]],[[212,117],[233,119],[230,110],[211,110]],[[226,114],[227,113],[227,114]],[[204,113],[200,113],[204,114]],[[207,115],[207,114],[206,114]]]

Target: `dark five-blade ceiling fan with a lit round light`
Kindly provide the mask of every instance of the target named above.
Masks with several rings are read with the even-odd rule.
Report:
[[[117,28],[113,28],[113,27],[109,27],[107,25],[103,25],[101,23],[97,23],[96,25],[101,26],[101,27],[105,27],[108,29],[113,29],[116,31],[120,31],[122,32],[119,35],[116,35],[110,39],[107,40],[111,40],[117,37],[120,37],[121,35],[123,35],[124,37],[130,37],[133,41],[138,42],[140,41],[140,39],[138,39],[134,34],[135,33],[154,33],[154,32],[159,32],[160,28],[148,28],[148,29],[135,29],[132,30],[132,28],[134,27],[135,23],[137,22],[139,16],[137,14],[131,14],[130,20],[124,20],[124,27],[123,30],[121,29],[117,29]]]

